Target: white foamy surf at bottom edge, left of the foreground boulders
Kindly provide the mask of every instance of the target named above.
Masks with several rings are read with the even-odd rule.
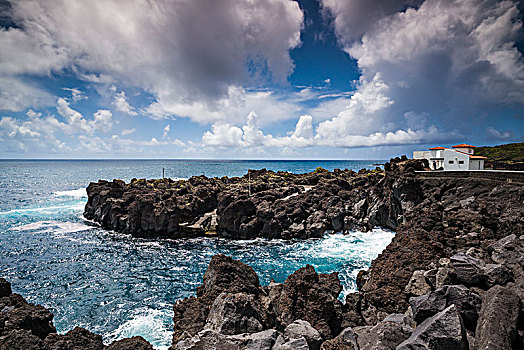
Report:
[[[167,349],[171,345],[170,340],[173,336],[171,317],[171,308],[165,310],[137,309],[130,320],[104,334],[104,343],[109,344],[119,339],[139,335],[150,342],[155,349]]]

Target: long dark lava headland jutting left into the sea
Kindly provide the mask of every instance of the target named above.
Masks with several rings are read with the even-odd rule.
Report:
[[[404,211],[423,198],[413,170],[425,165],[392,162],[386,173],[263,169],[241,178],[101,180],[87,188],[84,216],[103,228],[142,237],[290,239],[320,237],[326,230],[395,229]]]

